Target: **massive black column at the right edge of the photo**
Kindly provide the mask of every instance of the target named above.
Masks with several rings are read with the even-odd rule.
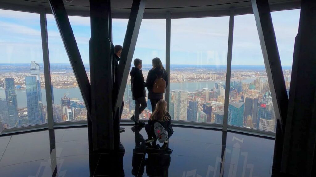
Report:
[[[316,148],[316,2],[301,1],[295,39],[282,172],[315,176]]]

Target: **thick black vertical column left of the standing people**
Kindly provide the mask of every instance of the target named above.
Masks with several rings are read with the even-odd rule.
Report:
[[[93,150],[114,149],[110,0],[90,0],[89,41]],[[91,137],[89,137],[91,138]]]

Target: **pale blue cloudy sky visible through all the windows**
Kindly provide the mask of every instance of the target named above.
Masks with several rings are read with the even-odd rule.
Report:
[[[283,66],[291,66],[300,10],[272,12]],[[90,19],[69,16],[84,63],[89,62]],[[113,19],[113,43],[123,44],[127,19]],[[171,20],[171,64],[225,65],[229,17]],[[51,63],[69,63],[56,22],[47,15]],[[166,20],[144,19],[133,58],[144,64],[161,58],[165,63]],[[39,14],[0,10],[0,63],[43,63]],[[234,19],[233,65],[264,65],[253,14]]]

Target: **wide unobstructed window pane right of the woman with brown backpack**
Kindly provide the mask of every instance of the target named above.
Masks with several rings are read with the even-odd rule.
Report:
[[[229,17],[171,20],[172,119],[223,123]]]

